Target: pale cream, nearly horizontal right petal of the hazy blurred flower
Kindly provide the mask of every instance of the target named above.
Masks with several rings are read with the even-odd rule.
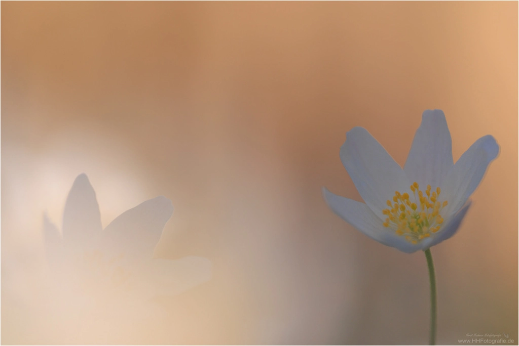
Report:
[[[132,287],[142,298],[176,295],[209,281],[211,271],[212,263],[204,257],[155,258],[136,273]]]

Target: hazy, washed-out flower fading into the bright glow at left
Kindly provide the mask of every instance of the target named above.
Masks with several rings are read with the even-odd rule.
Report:
[[[95,192],[87,176],[79,175],[66,200],[62,234],[44,220],[54,286],[67,294],[81,292],[87,302],[101,297],[102,304],[120,299],[127,304],[179,294],[208,281],[207,258],[153,258],[172,213],[171,201],[159,196],[122,213],[103,230]]]

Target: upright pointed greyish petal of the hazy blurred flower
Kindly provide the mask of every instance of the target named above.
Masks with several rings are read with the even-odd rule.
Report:
[[[101,213],[86,174],[79,175],[72,184],[63,211],[62,230],[64,246],[73,251],[89,248],[101,234]]]

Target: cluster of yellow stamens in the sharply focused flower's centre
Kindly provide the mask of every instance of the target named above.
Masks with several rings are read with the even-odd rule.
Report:
[[[427,185],[424,193],[419,190],[418,183],[411,185],[414,202],[409,200],[409,194],[401,194],[395,191],[393,203],[388,200],[386,204],[391,209],[384,209],[382,213],[387,216],[385,227],[395,230],[399,236],[404,236],[407,241],[416,244],[418,241],[430,237],[436,233],[443,223],[440,212],[447,205],[447,201],[441,202],[440,188],[431,193],[431,185]]]

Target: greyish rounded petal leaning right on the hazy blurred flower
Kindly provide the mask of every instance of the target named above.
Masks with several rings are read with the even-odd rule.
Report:
[[[146,200],[106,226],[101,246],[112,256],[124,254],[130,262],[152,258],[172,213],[173,205],[168,198],[159,196]]]

